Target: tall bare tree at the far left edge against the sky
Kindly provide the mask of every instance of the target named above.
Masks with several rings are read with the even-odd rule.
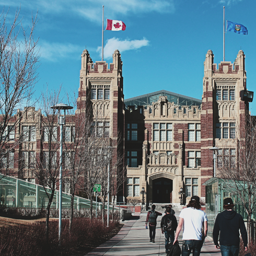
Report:
[[[10,174],[5,163],[14,161],[14,148],[23,139],[19,127],[24,117],[28,118],[28,109],[18,109],[31,106],[38,80],[39,53],[38,40],[34,40],[37,16],[32,16],[31,26],[24,28],[19,10],[12,22],[7,20],[7,14],[3,10],[0,15],[0,161],[1,172]]]

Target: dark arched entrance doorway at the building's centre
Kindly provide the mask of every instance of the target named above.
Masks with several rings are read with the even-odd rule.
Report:
[[[153,203],[172,203],[172,180],[167,178],[159,178],[153,180]]]

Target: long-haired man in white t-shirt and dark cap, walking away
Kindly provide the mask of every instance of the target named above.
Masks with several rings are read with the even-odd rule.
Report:
[[[200,209],[200,198],[194,195],[191,197],[187,208],[180,212],[179,225],[173,245],[178,240],[180,230],[183,227],[182,256],[189,256],[191,251],[193,251],[193,256],[200,255],[204,239],[207,235],[207,217]]]

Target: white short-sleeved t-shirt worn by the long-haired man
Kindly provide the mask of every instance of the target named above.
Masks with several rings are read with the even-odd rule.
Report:
[[[202,240],[202,227],[207,221],[205,212],[193,207],[184,208],[180,212],[183,222],[183,240]]]

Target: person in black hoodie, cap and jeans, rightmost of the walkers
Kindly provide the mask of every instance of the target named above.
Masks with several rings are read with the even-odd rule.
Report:
[[[216,249],[220,248],[222,256],[238,256],[240,245],[239,230],[242,235],[244,249],[247,251],[248,238],[245,222],[243,222],[242,216],[233,210],[234,206],[231,198],[224,199],[223,207],[226,211],[217,215],[213,228],[214,245]]]

